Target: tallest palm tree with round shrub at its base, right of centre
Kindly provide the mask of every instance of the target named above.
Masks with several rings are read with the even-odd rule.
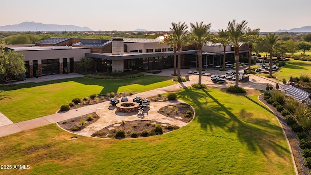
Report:
[[[247,22],[243,20],[241,23],[236,23],[235,20],[228,23],[228,35],[230,43],[234,46],[235,55],[235,86],[239,87],[239,46],[241,42],[245,42],[245,30]]]

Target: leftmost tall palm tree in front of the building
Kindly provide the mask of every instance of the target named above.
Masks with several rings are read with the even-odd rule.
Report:
[[[181,49],[185,46],[187,42],[188,31],[186,29],[188,26],[184,23],[174,23],[172,22],[172,28],[170,27],[170,32],[173,35],[174,41],[176,42],[177,51],[178,51],[178,64],[177,64],[177,78],[180,80],[180,62],[181,62]]]

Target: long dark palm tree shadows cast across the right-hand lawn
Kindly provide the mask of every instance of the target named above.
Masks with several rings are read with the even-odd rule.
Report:
[[[288,148],[283,147],[276,141],[277,137],[284,137],[279,125],[272,124],[267,119],[259,119],[257,116],[253,116],[252,113],[247,113],[243,106],[241,106],[239,113],[241,116],[237,117],[232,112],[230,112],[230,108],[226,108],[207,90],[203,90],[203,92],[207,96],[202,95],[202,93],[191,93],[188,95],[188,99],[197,105],[193,107],[198,110],[198,115],[196,115],[196,117],[198,122],[201,124],[201,128],[207,129],[208,127],[211,132],[213,132],[215,128],[222,128],[225,132],[236,133],[239,141],[242,144],[247,144],[249,150],[255,153],[260,150],[261,153],[263,153],[267,158],[269,158],[269,152],[271,150],[281,157],[287,157],[283,155],[288,153]],[[266,107],[258,104],[257,102],[254,102],[249,97],[242,99],[245,97],[245,95],[241,95],[239,97],[243,101],[250,100],[248,103],[249,105],[256,104],[262,107],[264,110],[268,110]],[[187,98],[187,96],[185,98]],[[204,106],[201,105],[204,104],[206,106],[207,104],[207,102],[202,103],[202,101],[198,101],[198,99],[202,98],[210,98],[212,100],[212,103],[209,103],[208,105],[211,110],[208,110],[207,107],[204,108]],[[215,102],[217,105],[214,105],[213,102]],[[271,112],[270,110],[268,111]],[[226,117],[225,115],[229,117]]]

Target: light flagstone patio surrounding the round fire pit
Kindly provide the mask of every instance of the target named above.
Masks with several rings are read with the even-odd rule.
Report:
[[[105,127],[122,122],[122,120],[125,120],[125,121],[152,120],[152,121],[157,121],[161,123],[169,123],[171,125],[175,125],[178,127],[183,127],[187,125],[188,123],[180,121],[178,119],[166,117],[158,113],[161,107],[180,104],[180,103],[185,103],[185,102],[181,100],[150,102],[149,107],[145,108],[143,112],[139,111],[139,112],[124,113],[124,112],[118,112],[117,107],[110,105],[108,101],[107,103],[104,103],[104,105],[96,109],[95,112],[98,116],[100,116],[100,118],[95,123],[92,123],[86,128],[84,128],[83,130],[77,131],[75,133],[79,135],[84,135],[84,136],[91,136],[93,133]],[[183,116],[180,116],[180,117],[183,117]]]

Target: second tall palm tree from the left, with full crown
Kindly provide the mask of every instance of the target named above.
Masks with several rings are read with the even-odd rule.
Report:
[[[203,44],[207,43],[210,40],[210,26],[211,24],[203,24],[201,22],[198,24],[190,23],[191,25],[191,34],[190,34],[190,43],[196,44],[199,50],[199,85],[202,83],[202,48]]]

